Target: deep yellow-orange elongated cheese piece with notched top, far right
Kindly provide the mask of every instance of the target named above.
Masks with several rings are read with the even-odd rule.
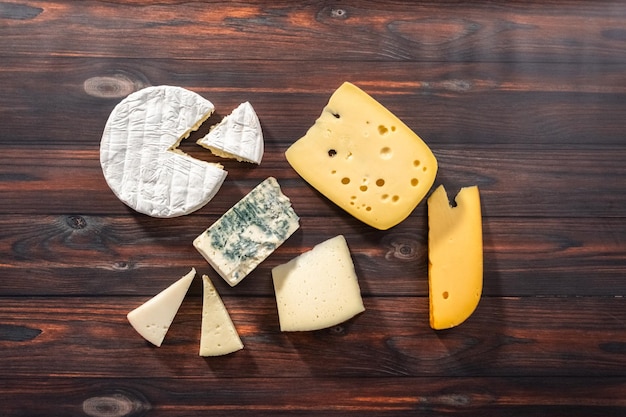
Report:
[[[428,198],[430,326],[447,329],[472,315],[483,287],[478,187],[462,188],[452,207],[443,185]]]

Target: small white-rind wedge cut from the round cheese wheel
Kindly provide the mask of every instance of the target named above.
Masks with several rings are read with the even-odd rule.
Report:
[[[213,126],[197,142],[215,155],[260,164],[263,158],[261,123],[249,102],[241,103],[231,114]]]

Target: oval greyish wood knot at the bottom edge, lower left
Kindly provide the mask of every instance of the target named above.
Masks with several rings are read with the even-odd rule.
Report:
[[[135,417],[149,409],[145,398],[129,392],[114,392],[83,401],[83,412],[92,417]]]

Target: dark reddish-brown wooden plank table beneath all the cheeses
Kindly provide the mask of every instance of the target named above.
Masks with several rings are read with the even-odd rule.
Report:
[[[3,416],[626,415],[625,2],[11,0],[0,62]],[[377,231],[285,160],[343,81],[425,139],[436,185],[481,189],[484,292],[457,328],[428,325],[424,202]],[[113,107],[160,84],[219,116],[250,101],[266,141],[176,219],[127,209],[99,164]],[[301,229],[230,288],[191,242],[270,175]],[[338,233],[366,312],[281,333],[271,268]],[[198,356],[200,280],[161,348],[127,323],[190,267],[244,350]]]

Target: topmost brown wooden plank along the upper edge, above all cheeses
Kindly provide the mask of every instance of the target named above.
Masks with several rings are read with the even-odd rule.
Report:
[[[494,1],[3,3],[0,55],[625,62],[626,12],[618,2],[501,6]],[[85,38],[90,41],[72,41]]]

